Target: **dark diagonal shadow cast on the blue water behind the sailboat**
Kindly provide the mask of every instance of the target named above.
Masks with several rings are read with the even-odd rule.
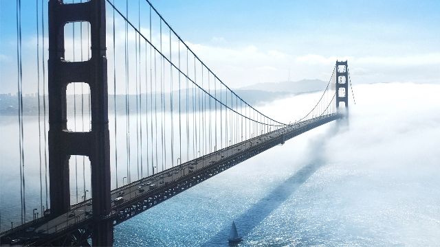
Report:
[[[272,211],[277,209],[285,200],[303,185],[322,165],[323,160],[320,152],[315,152],[316,157],[312,161],[290,176],[281,185],[267,193],[267,196],[261,198],[248,211],[236,217],[234,222],[239,230],[239,235],[245,237],[255,226],[258,226]],[[228,246],[228,237],[232,222],[214,235],[208,242],[202,246]]]

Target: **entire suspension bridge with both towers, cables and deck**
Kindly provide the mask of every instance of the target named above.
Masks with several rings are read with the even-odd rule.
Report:
[[[17,0],[21,221],[2,229],[1,245],[111,246],[113,226],[347,116],[347,61],[305,115],[283,123],[230,89],[148,0],[37,0],[39,159],[25,161],[21,8]],[[29,207],[34,163],[39,205]]]

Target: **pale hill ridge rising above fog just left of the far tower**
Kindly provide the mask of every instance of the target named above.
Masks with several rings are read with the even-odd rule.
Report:
[[[322,80],[299,80],[296,82],[261,82],[244,86],[241,90],[257,90],[266,92],[283,92],[283,93],[306,93],[311,91],[320,91],[327,86],[328,82]]]

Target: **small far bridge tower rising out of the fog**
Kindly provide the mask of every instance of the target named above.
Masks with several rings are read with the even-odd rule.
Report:
[[[345,111],[349,109],[349,67],[345,62],[336,60],[336,108],[340,112],[340,103],[344,102]]]

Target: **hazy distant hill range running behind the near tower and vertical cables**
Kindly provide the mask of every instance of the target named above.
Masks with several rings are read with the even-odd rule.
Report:
[[[324,82],[322,80],[300,80],[298,82],[266,82],[266,83],[258,83],[251,86],[245,86],[241,89],[234,89],[235,93],[239,95],[242,99],[244,99],[246,102],[248,102],[252,106],[258,106],[260,104],[265,104],[267,102],[272,102],[276,99],[282,99],[285,97],[289,97],[291,95],[296,95],[299,93],[307,93],[312,91],[320,91],[327,86],[327,82]],[[193,92],[192,89],[188,92],[188,95],[186,95],[186,91],[181,91],[181,106],[184,106],[186,108],[186,102],[188,97],[188,110],[192,111],[192,97]],[[76,96],[78,100],[76,100],[76,109],[81,109],[81,100],[80,95]],[[164,103],[165,103],[165,109],[168,111],[170,110],[170,93],[164,93]],[[199,94],[195,95],[195,97],[203,97]],[[205,102],[207,105],[209,105],[209,102],[211,102],[211,106],[215,105],[214,99],[210,99],[207,95],[204,95]],[[227,93],[226,91],[217,91],[217,98],[221,98],[222,100],[228,100],[228,104],[230,103],[230,93]],[[126,113],[126,105],[125,105],[125,95],[116,95],[116,113],[118,114],[125,114]],[[129,95],[129,108],[131,113],[135,113],[136,111],[136,99],[137,97],[135,95]],[[148,102],[146,101],[148,99]],[[156,99],[157,104],[156,107],[158,110],[160,110],[160,107],[162,105],[160,104],[161,95],[154,93],[148,93],[146,95],[145,93],[142,94],[142,104],[143,104],[143,110],[145,110],[144,104],[151,104],[151,100]],[[47,95],[46,95],[46,102],[47,101]],[[109,113],[114,113],[115,110],[113,108],[114,97],[113,95],[109,95]],[[74,113],[74,105],[72,102],[74,101],[74,95],[67,95],[67,114],[71,115]],[[89,95],[84,95],[84,102],[89,102]],[[232,102],[233,104],[238,104],[238,102]],[[41,99],[41,108],[43,104],[43,99]],[[48,103],[47,103],[48,106]],[[177,109],[179,108],[179,91],[173,92],[173,108]],[[18,98],[17,95],[6,95],[6,94],[0,94],[0,115],[17,115],[18,113]],[[30,94],[23,96],[23,115],[38,115],[38,98],[36,97],[36,94]],[[88,113],[88,104],[86,104],[84,112]],[[148,105],[147,111],[151,111],[151,106]],[[198,110],[197,107],[195,110]],[[78,113],[78,111],[77,111]]]

